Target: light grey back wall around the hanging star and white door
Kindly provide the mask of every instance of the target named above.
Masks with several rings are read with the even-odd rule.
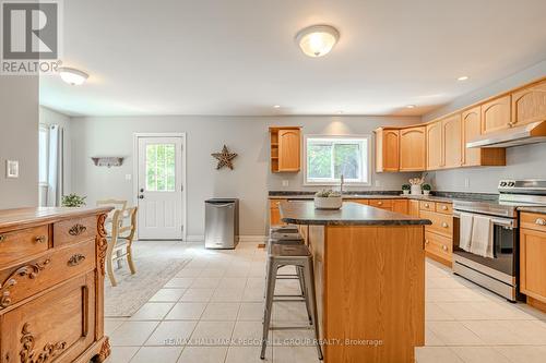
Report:
[[[203,201],[224,196],[240,198],[241,234],[263,235],[268,191],[305,190],[301,172],[281,176],[269,171],[270,125],[301,125],[307,134],[370,134],[379,125],[418,122],[419,118],[394,117],[73,118],[72,186],[75,193],[87,195],[90,205],[106,197],[132,201],[134,178],[127,181],[126,174],[133,172],[133,133],[186,132],[188,234],[203,234]],[[239,155],[234,171],[216,170],[211,157],[224,144]],[[99,168],[93,165],[92,156],[123,156],[126,160],[119,168]],[[399,190],[412,176],[373,173],[373,182],[379,181],[381,186],[371,189]],[[289,181],[287,187],[282,186],[283,179]]]

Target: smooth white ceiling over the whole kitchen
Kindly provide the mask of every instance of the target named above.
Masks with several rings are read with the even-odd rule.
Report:
[[[43,76],[40,104],[69,114],[423,114],[546,59],[545,0],[63,3],[91,77]],[[313,59],[294,36],[317,23],[341,38]]]

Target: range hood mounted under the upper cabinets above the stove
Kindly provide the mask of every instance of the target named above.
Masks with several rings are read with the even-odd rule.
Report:
[[[546,142],[546,121],[491,132],[466,143],[466,147],[511,147]]]

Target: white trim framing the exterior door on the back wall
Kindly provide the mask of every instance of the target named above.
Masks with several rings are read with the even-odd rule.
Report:
[[[178,137],[182,142],[182,157],[180,164],[182,172],[182,241],[188,239],[188,185],[186,182],[186,132],[135,132],[133,133],[133,205],[139,205],[139,138],[140,137]],[[138,226],[136,226],[138,227]],[[139,228],[136,228],[136,239],[139,238]]]

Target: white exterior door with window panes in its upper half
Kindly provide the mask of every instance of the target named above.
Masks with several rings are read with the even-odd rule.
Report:
[[[182,137],[138,137],[139,239],[182,239]]]

